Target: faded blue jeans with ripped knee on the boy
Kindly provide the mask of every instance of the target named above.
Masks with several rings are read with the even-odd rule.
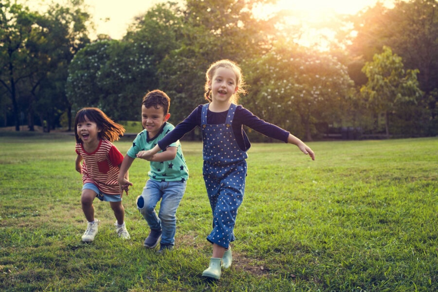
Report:
[[[137,208],[150,229],[162,230],[161,244],[174,245],[176,232],[176,211],[185,192],[186,182],[157,182],[148,180],[143,192],[137,198]],[[155,212],[158,201],[160,211]]]

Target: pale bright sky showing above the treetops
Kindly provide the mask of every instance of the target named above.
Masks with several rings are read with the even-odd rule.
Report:
[[[22,0],[25,2],[26,0]],[[49,0],[27,0],[31,8],[42,7],[41,2]],[[63,3],[65,0],[54,0]],[[367,6],[374,6],[378,0],[278,0],[277,9],[298,9],[303,11],[317,10],[319,13],[332,10],[342,14],[355,14]],[[381,0],[391,7],[394,0]],[[96,32],[109,35],[113,39],[121,39],[127,32],[128,25],[133,18],[145,14],[146,11],[164,0],[85,0],[89,12],[93,16]],[[35,5],[34,7],[32,7]],[[266,12],[267,10],[262,10]]]

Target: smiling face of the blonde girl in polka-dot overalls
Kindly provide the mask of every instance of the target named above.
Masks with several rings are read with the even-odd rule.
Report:
[[[232,69],[219,67],[208,83],[212,92],[212,100],[228,103],[233,94],[237,92],[236,80],[236,73]]]

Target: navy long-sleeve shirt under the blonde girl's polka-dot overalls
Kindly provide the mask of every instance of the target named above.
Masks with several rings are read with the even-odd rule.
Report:
[[[201,113],[202,105],[199,105],[195,110],[192,111],[192,113],[190,113],[187,118],[183,120],[183,122],[178,124],[172,131],[167,133],[167,135],[158,142],[160,149],[164,149],[168,145],[181,139],[186,133],[193,130],[193,128],[196,126],[201,127]],[[207,110],[207,124],[224,124],[227,113],[228,110],[222,112],[213,112]],[[243,125],[252,128],[253,130],[265,136],[288,143],[288,137],[290,134],[288,131],[263,121],[242,106],[237,106],[236,113],[234,114],[233,124],[231,126],[233,128],[237,144],[243,151],[247,151],[251,147],[248,137],[242,128]]]

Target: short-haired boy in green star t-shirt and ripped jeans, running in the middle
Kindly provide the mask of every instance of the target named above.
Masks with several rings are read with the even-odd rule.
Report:
[[[175,128],[167,120],[170,117],[170,98],[160,90],[148,92],[142,101],[142,125],[145,128],[134,139],[120,166],[118,183],[121,192],[128,191],[132,183],[125,179],[125,173],[142,151],[149,150]],[[140,155],[139,155],[140,153]],[[188,180],[187,164],[179,141],[169,145],[162,152],[147,159],[150,162],[149,180],[137,198],[137,208],[150,227],[145,239],[146,248],[154,248],[160,242],[160,250],[172,250],[175,245],[176,211],[185,192]],[[160,211],[155,212],[158,201]],[[161,239],[161,241],[160,241]]]

